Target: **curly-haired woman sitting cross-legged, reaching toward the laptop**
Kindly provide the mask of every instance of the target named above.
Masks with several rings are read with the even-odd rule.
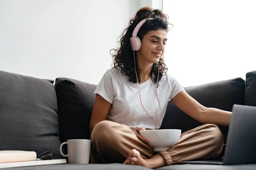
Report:
[[[231,112],[204,107],[166,72],[163,53],[168,25],[162,11],[145,7],[124,30],[120,48],[113,55],[113,68],[106,71],[95,90],[90,162],[158,168],[221,153],[223,136],[216,125],[229,125]],[[136,36],[140,40],[135,40]],[[147,139],[126,123],[139,130],[158,129],[169,99],[205,125],[182,133],[168,150],[154,152]]]

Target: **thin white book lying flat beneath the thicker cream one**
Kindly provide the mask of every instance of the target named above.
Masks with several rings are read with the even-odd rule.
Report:
[[[52,160],[36,159],[35,161],[0,163],[0,169],[9,168],[9,167],[29,167],[29,166],[37,166],[37,165],[65,164],[65,163],[67,163],[66,159],[52,159]]]

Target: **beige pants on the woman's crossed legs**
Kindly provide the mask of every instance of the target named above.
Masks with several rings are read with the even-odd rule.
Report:
[[[136,149],[143,159],[160,153],[166,165],[170,165],[177,161],[214,158],[223,147],[221,130],[212,124],[181,133],[177,144],[160,152],[141,142],[129,127],[111,121],[99,122],[92,131],[91,141],[91,163],[123,163],[129,152]]]

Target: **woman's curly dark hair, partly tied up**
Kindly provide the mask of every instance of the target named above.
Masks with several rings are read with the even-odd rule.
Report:
[[[148,33],[148,31],[155,31],[158,29],[166,30],[166,32],[169,31],[167,14],[163,14],[160,9],[152,9],[149,7],[140,8],[139,11],[137,11],[135,17],[129,20],[128,27],[125,28],[125,30],[122,32],[120,36],[121,38],[119,40],[120,47],[117,49],[111,49],[111,51],[114,50],[114,54],[111,54],[113,58],[112,68],[121,68],[122,73],[124,73],[128,77],[128,80],[133,83],[137,82],[137,77],[138,82],[141,82],[142,76],[140,74],[140,68],[136,63],[136,77],[136,73],[134,70],[134,51],[131,49],[130,46],[130,38],[132,37],[132,32],[134,31],[134,28],[137,26],[137,24],[140,23],[141,20],[149,17],[154,19],[147,20],[138,31],[137,36],[140,38],[141,41],[145,34]],[[137,62],[136,53],[135,60]],[[150,72],[150,78],[152,79],[154,84],[157,84],[158,67],[160,70],[158,81],[160,81],[160,79],[168,70],[168,68],[166,68],[166,65],[164,64],[162,57],[159,59],[159,62],[153,63]]]

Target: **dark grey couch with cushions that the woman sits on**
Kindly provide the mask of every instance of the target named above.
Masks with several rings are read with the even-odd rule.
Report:
[[[54,159],[61,142],[67,139],[90,139],[89,123],[96,85],[70,78],[38,79],[0,71],[0,150],[33,150],[38,154],[51,150]],[[232,111],[234,104],[256,106],[256,71],[246,79],[233,78],[204,85],[185,87],[188,94],[206,107]],[[182,131],[202,125],[180,111],[171,101],[161,129]],[[227,139],[228,127],[220,127]],[[224,155],[225,148],[216,158]],[[64,153],[67,148],[64,147]],[[124,164],[58,164],[9,168],[19,170],[146,170],[137,165]],[[255,170],[250,165],[171,165],[159,170]]]

